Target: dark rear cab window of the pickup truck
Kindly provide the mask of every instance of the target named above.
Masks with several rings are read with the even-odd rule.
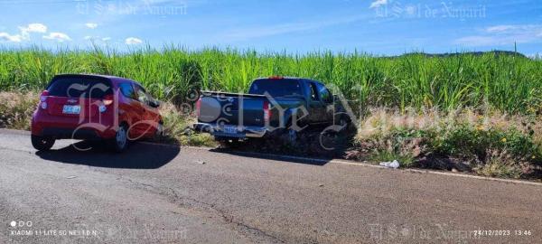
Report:
[[[265,95],[269,93],[271,97],[289,97],[302,96],[301,85],[299,80],[282,79],[282,80],[254,80],[248,93]]]

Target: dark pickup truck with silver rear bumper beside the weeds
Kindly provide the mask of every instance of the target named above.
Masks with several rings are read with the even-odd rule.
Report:
[[[348,126],[350,119],[322,82],[269,77],[253,80],[248,94],[201,91],[194,129],[218,141],[281,136],[294,140],[305,129]]]

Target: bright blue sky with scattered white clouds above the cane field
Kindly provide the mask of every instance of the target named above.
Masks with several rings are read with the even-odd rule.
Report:
[[[542,53],[541,0],[0,0],[0,46]]]

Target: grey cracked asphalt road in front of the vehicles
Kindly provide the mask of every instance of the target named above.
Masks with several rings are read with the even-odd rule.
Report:
[[[70,143],[0,130],[0,243],[542,243],[539,185]]]

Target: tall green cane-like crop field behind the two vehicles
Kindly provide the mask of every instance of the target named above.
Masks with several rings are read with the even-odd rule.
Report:
[[[59,73],[111,74],[142,82],[158,99],[183,101],[191,89],[247,91],[251,80],[298,76],[334,84],[357,108],[482,108],[542,111],[542,61],[514,55],[397,58],[367,53],[253,52],[177,47],[0,50],[0,90],[42,89]]]

